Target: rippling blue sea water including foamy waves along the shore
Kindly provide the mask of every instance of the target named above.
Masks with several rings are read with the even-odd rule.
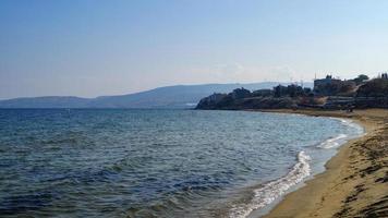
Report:
[[[246,111],[0,110],[1,217],[246,217],[363,130]]]

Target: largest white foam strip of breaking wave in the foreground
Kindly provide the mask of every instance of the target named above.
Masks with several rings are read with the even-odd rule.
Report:
[[[298,154],[298,162],[292,167],[289,173],[278,180],[264,184],[264,186],[257,190],[254,190],[252,201],[248,204],[233,206],[229,213],[229,217],[247,217],[253,210],[263,208],[283,195],[287,190],[302,182],[304,178],[310,175],[310,160],[311,157],[308,155],[304,152],[300,152]]]

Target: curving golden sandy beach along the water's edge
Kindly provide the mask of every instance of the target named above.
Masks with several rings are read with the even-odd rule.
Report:
[[[268,112],[349,118],[366,135],[341,146],[325,172],[286,195],[266,218],[388,217],[388,110]]]

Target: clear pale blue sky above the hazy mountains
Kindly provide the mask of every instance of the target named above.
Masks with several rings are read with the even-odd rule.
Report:
[[[385,0],[0,0],[0,99],[388,70]]]

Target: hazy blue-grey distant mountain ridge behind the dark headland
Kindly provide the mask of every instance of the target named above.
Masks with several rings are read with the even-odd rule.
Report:
[[[175,85],[135,94],[97,98],[72,96],[14,98],[0,100],[0,108],[193,108],[203,97],[214,93],[230,93],[240,87],[250,90],[272,88],[278,84],[287,85],[287,83],[277,82]],[[312,83],[307,83],[305,86],[311,87]]]

